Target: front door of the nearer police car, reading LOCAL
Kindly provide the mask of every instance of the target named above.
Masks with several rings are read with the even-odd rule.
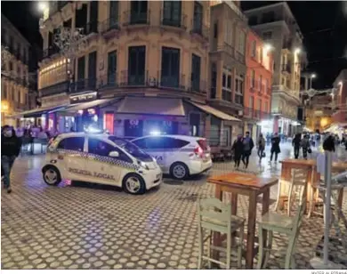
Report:
[[[117,151],[118,157],[109,157],[111,151]],[[131,164],[132,159],[112,142],[88,137],[88,167],[93,171],[93,181],[121,187]]]

